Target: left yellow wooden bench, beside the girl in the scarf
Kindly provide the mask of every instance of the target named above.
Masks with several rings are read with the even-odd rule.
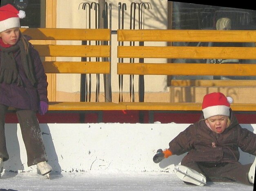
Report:
[[[110,29],[71,29],[71,28],[21,28],[24,35],[45,57],[43,66],[46,74],[110,74],[111,63],[103,59],[111,55]],[[56,44],[56,41],[107,41],[108,45]],[[89,43],[87,43],[89,44]],[[103,43],[102,43],[103,44]],[[92,58],[87,61],[56,61],[55,57]],[[52,59],[53,58],[53,59]],[[53,61],[52,61],[53,60]],[[89,61],[88,61],[89,60]],[[123,110],[125,105],[113,102],[49,102],[49,111],[102,111]]]

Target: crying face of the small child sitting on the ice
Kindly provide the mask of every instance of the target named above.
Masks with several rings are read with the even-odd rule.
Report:
[[[227,128],[227,116],[216,115],[209,117],[205,120],[205,123],[212,131],[216,133],[222,133]]]

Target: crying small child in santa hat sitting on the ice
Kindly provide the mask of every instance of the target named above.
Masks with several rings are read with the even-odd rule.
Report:
[[[185,183],[203,186],[207,181],[237,181],[254,184],[254,163],[238,162],[239,150],[256,155],[256,134],[241,128],[223,93],[205,95],[203,115],[175,137],[166,150],[158,150],[155,163],[188,152],[174,172]]]

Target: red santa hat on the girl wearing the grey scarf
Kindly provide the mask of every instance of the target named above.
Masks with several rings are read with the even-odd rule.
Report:
[[[20,27],[20,19],[26,17],[24,11],[18,11],[11,4],[0,7],[0,33],[4,30]]]

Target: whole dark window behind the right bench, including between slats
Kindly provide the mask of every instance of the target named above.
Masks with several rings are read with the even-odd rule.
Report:
[[[227,17],[231,20],[230,30],[255,30],[256,11],[210,5],[173,2],[172,29],[216,30],[216,21]],[[255,43],[173,42],[172,46],[241,46],[254,47]],[[216,59],[172,59],[172,63],[215,63]],[[218,63],[222,62],[219,60]],[[223,61],[222,63],[224,63]],[[228,63],[252,63],[256,60],[229,60]],[[246,76],[168,76],[171,79],[256,79]]]

